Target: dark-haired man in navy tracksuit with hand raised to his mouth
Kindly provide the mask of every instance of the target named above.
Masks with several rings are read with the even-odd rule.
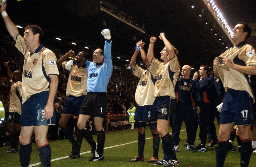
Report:
[[[199,137],[201,138],[201,144],[194,146],[191,145],[188,147],[189,150],[197,151],[201,148],[205,148],[206,138],[207,138],[207,125],[209,124],[209,119],[211,118],[212,110],[210,100],[211,97],[211,89],[212,89],[212,80],[207,76],[209,72],[209,67],[207,65],[202,65],[199,68],[199,76],[202,78],[198,79],[198,73],[195,72],[193,79],[197,88],[197,101],[200,107],[200,113],[198,114],[198,123],[200,127]],[[216,132],[215,132],[216,135]],[[215,138],[213,134],[213,138]],[[217,138],[217,136],[216,136]]]

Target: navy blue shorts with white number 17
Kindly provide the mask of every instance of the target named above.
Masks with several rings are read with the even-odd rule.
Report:
[[[251,125],[254,120],[253,98],[246,91],[228,89],[219,124]]]

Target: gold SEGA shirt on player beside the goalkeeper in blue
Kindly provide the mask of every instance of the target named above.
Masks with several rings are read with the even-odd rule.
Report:
[[[62,67],[65,67],[67,61],[62,62]],[[69,72],[69,78],[67,81],[66,96],[72,95],[75,97],[86,95],[87,89],[87,69],[86,66],[79,67],[73,64]]]

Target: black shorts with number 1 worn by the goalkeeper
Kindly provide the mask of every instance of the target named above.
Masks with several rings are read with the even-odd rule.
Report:
[[[107,96],[105,92],[87,92],[79,114],[104,118],[107,110]]]

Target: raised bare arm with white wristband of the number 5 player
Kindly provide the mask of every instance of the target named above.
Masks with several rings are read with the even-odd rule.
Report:
[[[1,2],[1,1],[0,1]],[[13,37],[14,41],[16,40],[17,35],[19,35],[18,28],[13,24],[11,19],[6,13],[6,3],[3,5],[1,2],[0,12],[2,14],[3,20],[5,21],[5,26],[11,37]]]

